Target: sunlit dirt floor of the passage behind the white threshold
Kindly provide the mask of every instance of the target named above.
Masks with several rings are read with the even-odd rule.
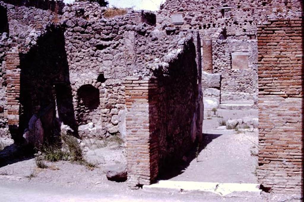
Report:
[[[216,129],[221,119],[257,118],[257,110],[219,109],[216,115],[211,113],[203,122],[204,148],[183,173],[171,180],[257,183],[257,129]]]

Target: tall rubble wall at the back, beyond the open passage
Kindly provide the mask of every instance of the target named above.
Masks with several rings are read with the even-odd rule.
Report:
[[[179,30],[198,30],[203,41],[212,40],[212,72],[222,75],[221,101],[256,101],[257,24],[265,21],[270,14],[301,13],[300,4],[299,0],[167,0],[161,6],[157,22]],[[176,15],[182,16],[180,23],[175,23]],[[247,54],[248,61],[237,58],[244,60],[244,65],[233,68],[234,54]],[[203,66],[203,71],[209,71],[209,66]],[[231,80],[233,82],[230,83]]]

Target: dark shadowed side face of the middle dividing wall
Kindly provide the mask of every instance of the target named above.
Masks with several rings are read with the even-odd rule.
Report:
[[[199,96],[197,68],[196,48],[193,42],[189,42],[185,51],[169,63],[168,71],[156,72],[159,89],[156,127],[161,176],[171,173],[172,168],[179,168],[184,155],[198,142],[195,130],[199,118],[196,114]],[[150,94],[153,93],[149,90],[149,103],[154,101]],[[149,119],[150,131],[155,131],[151,124],[155,122],[155,116],[151,111]]]

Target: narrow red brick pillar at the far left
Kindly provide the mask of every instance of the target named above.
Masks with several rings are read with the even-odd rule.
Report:
[[[19,53],[7,53],[6,63],[6,82],[7,82],[7,105],[5,113],[11,129],[17,129],[19,125],[19,95],[20,95],[20,69]]]

